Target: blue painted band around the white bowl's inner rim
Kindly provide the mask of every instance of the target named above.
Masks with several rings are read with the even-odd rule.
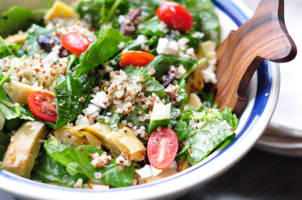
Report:
[[[241,9],[238,7],[238,5],[236,5],[232,0],[212,0],[214,2],[214,4],[221,10],[223,11],[226,15],[228,15],[233,21],[234,23],[236,23],[236,25],[239,27],[241,26],[243,23],[245,23],[247,20],[249,20],[248,15]],[[228,150],[229,148],[233,147],[234,145],[236,145],[236,142],[239,139],[244,138],[251,130],[252,127],[255,125],[255,123],[258,122],[260,116],[262,115],[267,102],[268,102],[268,98],[265,96],[265,93],[270,93],[271,91],[271,86],[272,86],[272,66],[271,66],[271,62],[270,61],[263,61],[260,66],[258,67],[257,71],[257,93],[256,93],[256,97],[255,97],[255,102],[252,108],[252,111],[248,117],[248,119],[246,120],[245,124],[243,125],[243,128],[237,133],[236,138],[230,142],[225,148],[223,148],[220,152],[217,153],[217,155],[213,156],[213,158],[209,159],[208,161],[204,162],[203,164],[201,164],[200,166],[191,169],[188,171],[186,171],[186,173],[183,173],[180,176],[177,177],[173,177],[171,179],[167,179],[167,180],[163,180],[161,182],[158,183],[154,183],[154,184],[148,184],[147,186],[143,185],[139,185],[139,187],[126,187],[126,188],[114,188],[114,189],[110,189],[110,190],[104,190],[104,191],[94,191],[94,190],[89,190],[89,193],[104,193],[104,192],[117,192],[117,191],[123,191],[123,190],[135,190],[135,189],[141,189],[143,187],[150,187],[152,185],[159,185],[161,183],[166,183],[170,180],[174,180],[177,179],[178,177],[184,176],[187,173],[190,173],[191,171],[197,170],[200,167],[204,166],[205,164],[209,163],[210,161],[214,160],[215,158],[219,157],[221,154],[223,154],[223,152],[226,152],[226,150]],[[19,182],[24,182],[26,184],[31,184],[34,186],[38,186],[38,187],[44,187],[44,188],[48,188],[48,189],[55,189],[55,190],[69,190],[72,192],[88,192],[87,190],[74,190],[72,188],[64,188],[64,187],[56,187],[53,188],[51,186],[47,186],[47,184],[41,185],[38,182],[34,182],[32,180],[26,180],[26,179],[18,179],[17,177],[12,177],[6,173],[4,173],[3,171],[0,170],[0,175],[5,177],[5,178],[9,178],[9,179],[13,179]]]

